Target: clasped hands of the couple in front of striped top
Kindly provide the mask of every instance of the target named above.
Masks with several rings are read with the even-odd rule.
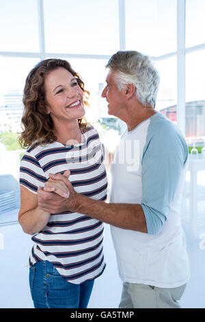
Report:
[[[44,187],[38,188],[38,207],[51,214],[64,211],[76,211],[79,194],[68,180],[70,171],[63,175],[49,173]]]

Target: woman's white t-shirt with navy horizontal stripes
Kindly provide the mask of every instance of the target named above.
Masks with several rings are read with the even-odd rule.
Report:
[[[102,145],[94,127],[87,127],[83,135],[84,142],[77,145],[55,142],[29,147],[20,163],[20,184],[37,194],[49,173],[70,170],[69,180],[77,193],[105,201],[107,175]],[[51,214],[44,229],[31,238],[34,245],[29,264],[49,260],[69,282],[93,280],[105,269],[103,229],[103,223],[84,214]]]

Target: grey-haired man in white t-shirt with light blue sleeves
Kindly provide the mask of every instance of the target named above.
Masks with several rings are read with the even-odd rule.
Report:
[[[39,190],[39,206],[52,213],[77,211],[111,225],[123,282],[120,308],[180,308],[189,280],[180,224],[187,145],[176,125],[154,110],[159,75],[146,55],[118,51],[107,67],[102,97],[108,113],[127,125],[111,166],[110,203],[79,195],[65,173],[51,175]],[[55,180],[61,184],[55,186]],[[52,187],[56,194],[49,193]],[[57,195],[66,189],[68,198]]]

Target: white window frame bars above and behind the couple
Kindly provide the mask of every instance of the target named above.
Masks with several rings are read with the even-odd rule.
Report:
[[[205,42],[193,47],[185,47],[185,28],[186,28],[186,0],[177,1],[177,51],[152,57],[153,60],[165,60],[167,58],[176,56],[177,58],[177,123],[182,133],[185,135],[185,61],[186,54],[194,51],[205,49]],[[79,59],[103,59],[109,60],[110,55],[92,55],[92,54],[71,54],[71,53],[46,53],[45,51],[45,35],[44,35],[44,3],[43,0],[37,0],[38,5],[38,26],[39,26],[39,52],[16,52],[16,51],[0,51],[0,55],[10,58],[38,58],[44,60],[45,58],[61,57],[61,58],[79,58]],[[126,0],[118,0],[119,10],[119,36],[120,44],[119,50],[126,50],[126,21],[125,10]]]

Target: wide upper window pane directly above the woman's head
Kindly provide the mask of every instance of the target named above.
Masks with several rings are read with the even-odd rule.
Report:
[[[44,0],[46,51],[110,54],[118,50],[118,0]]]

